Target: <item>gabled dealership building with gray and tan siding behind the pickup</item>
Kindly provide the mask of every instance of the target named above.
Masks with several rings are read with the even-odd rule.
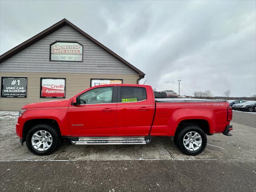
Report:
[[[63,19],[0,56],[0,110],[71,98],[100,84],[138,84],[144,76]]]

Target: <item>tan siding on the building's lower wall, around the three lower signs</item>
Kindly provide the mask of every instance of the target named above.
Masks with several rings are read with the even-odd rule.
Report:
[[[66,98],[82,92],[90,87],[91,78],[122,79],[124,84],[136,84],[138,75],[135,74],[82,74],[82,73],[24,73],[1,72],[2,76],[27,77],[27,98],[0,98],[0,110],[18,111],[22,106],[30,103],[50,100],[62,100],[60,98],[40,98],[40,77],[66,78]],[[1,80],[1,78],[0,78]],[[0,82],[1,83],[1,82]]]

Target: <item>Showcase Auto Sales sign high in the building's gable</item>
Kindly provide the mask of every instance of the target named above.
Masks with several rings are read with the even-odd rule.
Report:
[[[83,46],[77,42],[56,42],[51,45],[51,61],[82,61]]]

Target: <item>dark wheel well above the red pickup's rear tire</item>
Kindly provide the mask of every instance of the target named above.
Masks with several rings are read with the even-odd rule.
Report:
[[[184,128],[185,126],[189,126],[189,125],[198,126],[206,133],[206,135],[210,135],[210,126],[209,126],[207,120],[204,120],[204,119],[188,119],[188,120],[183,120],[178,124],[178,127],[177,127],[176,132],[175,132],[175,136],[180,132],[180,130],[182,130],[182,128]]]

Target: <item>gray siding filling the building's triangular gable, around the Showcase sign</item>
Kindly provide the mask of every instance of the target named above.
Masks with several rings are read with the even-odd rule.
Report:
[[[83,45],[82,62],[50,61],[50,44],[77,41]],[[138,72],[112,56],[74,28],[65,25],[0,64],[1,72],[130,74]]]

